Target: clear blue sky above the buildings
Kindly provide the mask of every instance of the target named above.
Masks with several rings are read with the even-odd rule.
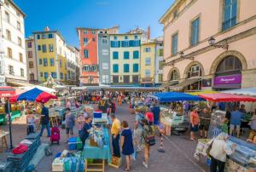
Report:
[[[26,37],[45,26],[58,30],[67,43],[79,47],[77,27],[107,28],[119,32],[139,26],[151,28],[151,37],[163,35],[160,17],[174,0],[15,0],[26,14]]]

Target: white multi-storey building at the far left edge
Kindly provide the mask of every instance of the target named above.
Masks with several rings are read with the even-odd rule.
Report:
[[[24,18],[11,0],[0,1],[0,83],[27,83]]]

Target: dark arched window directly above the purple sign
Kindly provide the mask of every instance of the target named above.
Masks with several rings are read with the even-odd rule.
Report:
[[[236,56],[227,56],[218,64],[215,76],[226,76],[241,73],[241,60]]]

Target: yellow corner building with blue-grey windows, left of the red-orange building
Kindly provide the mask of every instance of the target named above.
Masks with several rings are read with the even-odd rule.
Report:
[[[56,83],[67,83],[66,43],[60,32],[33,32],[36,58],[38,61],[38,82],[44,83],[49,75]]]

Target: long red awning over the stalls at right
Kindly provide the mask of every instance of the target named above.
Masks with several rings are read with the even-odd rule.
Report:
[[[212,100],[216,102],[256,101],[256,97],[245,95],[231,95],[227,93],[202,94],[199,96],[206,100]]]

